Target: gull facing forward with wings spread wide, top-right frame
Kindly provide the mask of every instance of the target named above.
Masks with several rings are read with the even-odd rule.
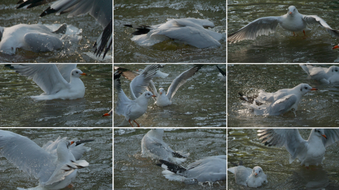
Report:
[[[316,15],[302,15],[295,6],[289,6],[287,14],[282,16],[268,16],[258,18],[240,30],[227,36],[229,44],[242,40],[255,40],[258,36],[269,35],[276,32],[278,24],[285,30],[293,32],[310,30],[308,24],[319,24],[326,29],[332,37],[339,37],[339,31],[332,29],[322,18]],[[306,35],[305,35],[306,36]]]

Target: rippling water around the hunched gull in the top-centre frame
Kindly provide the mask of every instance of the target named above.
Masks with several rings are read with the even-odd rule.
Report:
[[[114,63],[204,62],[226,63],[222,46],[197,48],[177,43],[141,47],[130,40],[132,28],[124,24],[156,25],[167,18],[209,19],[219,32],[226,32],[225,0],[114,0]]]

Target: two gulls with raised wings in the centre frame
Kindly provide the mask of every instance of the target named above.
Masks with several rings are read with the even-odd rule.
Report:
[[[152,81],[153,77],[168,76],[168,74],[164,74],[159,71],[159,66],[160,65],[148,65],[141,74],[125,68],[114,67],[116,71],[114,72],[113,76],[113,86],[118,91],[118,100],[116,103],[115,113],[125,116],[123,122],[119,126],[128,125],[128,123],[133,126],[131,121],[134,121],[138,127],[140,127],[135,119],[141,117],[146,112],[148,99],[150,97],[154,97],[155,103],[159,106],[170,105],[171,98],[176,93],[176,91],[184,83],[186,83],[190,77],[198,72],[203,65],[195,65],[177,76],[169,86],[167,94],[163,88],[159,89],[158,94]],[[124,76],[125,78],[131,80],[129,89],[132,99],[129,99],[121,89],[120,76]],[[145,91],[146,89],[147,91]]]

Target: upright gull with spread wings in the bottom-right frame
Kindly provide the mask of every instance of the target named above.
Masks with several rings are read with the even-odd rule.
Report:
[[[284,146],[290,154],[289,163],[297,158],[301,166],[322,164],[326,147],[339,141],[339,129],[312,129],[307,141],[298,129],[262,129],[258,133],[265,145]]]

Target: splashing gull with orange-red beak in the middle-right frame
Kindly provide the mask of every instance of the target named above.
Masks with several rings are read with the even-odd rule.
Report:
[[[317,90],[308,84],[300,84],[292,89],[282,89],[275,93],[266,93],[261,90],[258,96],[254,99],[251,98],[253,102],[242,97],[243,100],[251,103],[251,105],[242,104],[253,108],[256,115],[280,115],[291,109],[297,110],[301,97],[310,91]]]

